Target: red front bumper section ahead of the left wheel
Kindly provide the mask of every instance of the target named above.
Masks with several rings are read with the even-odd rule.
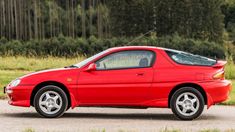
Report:
[[[30,96],[32,86],[6,87],[5,93],[8,96],[8,103],[14,106],[30,107]]]

